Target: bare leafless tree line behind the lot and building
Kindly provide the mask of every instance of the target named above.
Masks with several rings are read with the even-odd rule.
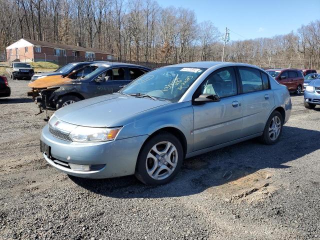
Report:
[[[178,63],[221,60],[223,42],[211,21],[155,0],[0,0],[2,50],[20,38],[95,47],[118,60]],[[290,29],[288,29],[289,31]],[[231,40],[224,60],[261,67],[320,69],[320,20],[288,34]]]

